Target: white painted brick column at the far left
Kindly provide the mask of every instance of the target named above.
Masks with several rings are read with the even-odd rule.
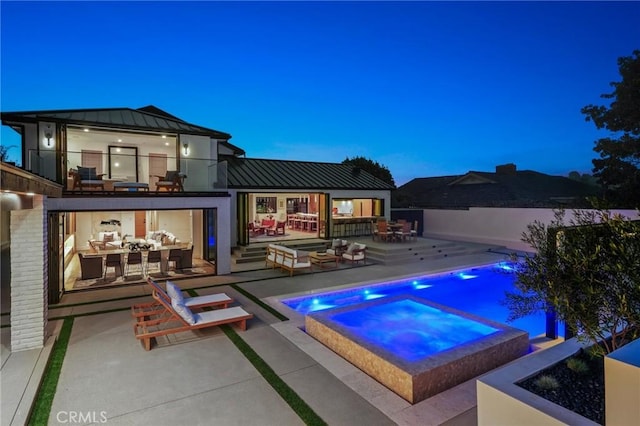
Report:
[[[11,212],[11,351],[44,346],[47,325],[47,218],[42,197]]]

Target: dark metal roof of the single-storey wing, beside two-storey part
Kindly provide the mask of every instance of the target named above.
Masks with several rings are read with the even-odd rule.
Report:
[[[392,185],[364,170],[340,163],[224,157],[228,186],[236,189],[391,190]]]

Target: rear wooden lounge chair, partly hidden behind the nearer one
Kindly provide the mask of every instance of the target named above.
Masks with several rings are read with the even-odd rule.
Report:
[[[216,294],[208,294],[205,296],[196,296],[196,297],[183,297],[182,289],[178,287],[177,284],[174,284],[171,281],[167,281],[166,287],[167,291],[165,291],[160,284],[155,282],[151,278],[147,278],[147,284],[151,286],[153,291],[160,293],[166,300],[171,300],[172,298],[182,298],[185,306],[189,309],[200,309],[200,308],[208,308],[208,307],[220,307],[227,308],[229,304],[233,302],[233,299],[227,296],[225,293],[216,293]],[[161,315],[165,313],[166,309],[158,303],[158,301],[153,301],[149,303],[139,303],[133,305],[131,307],[131,315],[138,321],[145,321],[145,319],[150,319],[153,316]]]

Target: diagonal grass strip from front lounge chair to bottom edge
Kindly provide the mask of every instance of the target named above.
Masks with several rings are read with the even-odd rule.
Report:
[[[275,371],[249,346],[247,342],[242,340],[238,333],[229,325],[220,326],[224,334],[227,335],[229,340],[236,345],[236,348],[249,360],[249,362],[255,367],[256,370],[264,377],[264,379],[271,385],[278,395],[289,404],[291,409],[302,419],[307,425],[326,425],[327,423],[322,420],[320,416],[309,405],[304,402],[300,396],[287,385],[284,380],[276,374]]]

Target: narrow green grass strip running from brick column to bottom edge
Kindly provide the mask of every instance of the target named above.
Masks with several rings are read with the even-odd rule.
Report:
[[[60,370],[67,353],[69,338],[71,337],[71,329],[73,328],[73,317],[65,318],[62,323],[62,329],[58,340],[53,344],[51,356],[44,372],[42,382],[36,394],[33,410],[29,416],[28,425],[46,425],[49,423],[49,415],[51,414],[51,405],[53,397],[56,395],[58,387],[58,379],[60,378]]]

